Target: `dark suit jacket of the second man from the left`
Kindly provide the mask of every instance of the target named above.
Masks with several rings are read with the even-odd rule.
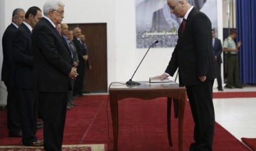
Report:
[[[13,80],[17,88],[35,89],[31,35],[25,24],[21,24],[15,35],[13,59],[16,66]]]

